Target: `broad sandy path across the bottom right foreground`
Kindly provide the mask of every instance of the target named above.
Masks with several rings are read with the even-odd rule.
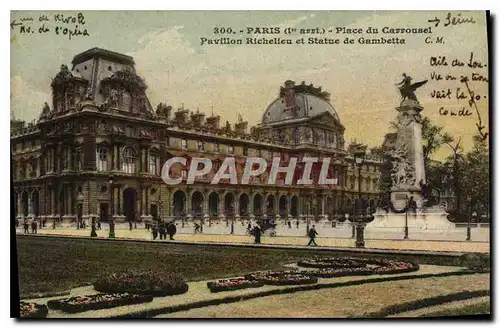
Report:
[[[464,290],[489,288],[489,275],[431,277],[341,286],[207,306],[158,318],[345,318],[387,306]]]

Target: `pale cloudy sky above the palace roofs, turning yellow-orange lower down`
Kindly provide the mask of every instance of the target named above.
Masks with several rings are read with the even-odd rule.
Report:
[[[280,86],[291,79],[300,83],[322,86],[331,94],[331,104],[345,126],[347,142],[357,140],[370,147],[382,143],[390,132],[389,122],[395,120],[401,97],[396,83],[402,73],[413,81],[429,80],[417,91],[424,107],[423,115],[446,132],[462,138],[465,150],[472,146],[476,133],[477,115],[468,99],[456,99],[457,88],[466,91],[460,75],[472,73],[488,77],[488,67],[467,67],[471,52],[474,60],[488,64],[486,16],[484,12],[451,12],[452,17],[472,18],[475,23],[446,24],[448,12],[425,11],[88,11],[82,12],[89,36],[57,35],[55,28],[76,24],[54,22],[54,15],[76,16],[78,12],[11,12],[11,22],[33,17],[26,22],[34,27],[31,34],[20,33],[19,26],[11,30],[11,116],[31,121],[37,119],[44,101],[51,103],[51,79],[61,64],[70,65],[74,55],[89,48],[100,47],[133,56],[136,70],[148,84],[147,94],[154,107],[160,102],[174,108],[184,106],[210,115],[212,108],[222,120],[235,122],[238,114],[250,125],[258,124],[267,106],[278,96]],[[41,15],[50,29],[39,33]],[[428,20],[440,19],[439,26]],[[426,28],[432,34],[335,34],[320,38],[340,38],[337,45],[200,45],[200,38],[217,38],[214,27],[325,28]],[[379,30],[379,32],[381,32]],[[302,35],[306,38],[315,35]],[[233,35],[246,37],[291,37],[279,35]],[[442,37],[444,44],[426,44],[425,38]],[[343,44],[345,37],[355,44]],[[365,38],[399,37],[405,44],[359,44]],[[445,56],[448,66],[431,66],[431,57]],[[465,63],[452,67],[453,59]],[[442,80],[431,79],[432,72]],[[458,80],[447,81],[446,75]],[[475,75],[478,76],[478,75]],[[470,81],[470,89],[480,95],[477,101],[483,122],[488,124],[488,84]],[[450,88],[451,99],[435,99],[433,91],[445,93]],[[465,95],[469,93],[466,91]],[[458,112],[465,107],[473,115],[460,117],[440,115],[439,109]],[[443,110],[442,110],[443,112]],[[449,155],[443,147],[436,159]]]

